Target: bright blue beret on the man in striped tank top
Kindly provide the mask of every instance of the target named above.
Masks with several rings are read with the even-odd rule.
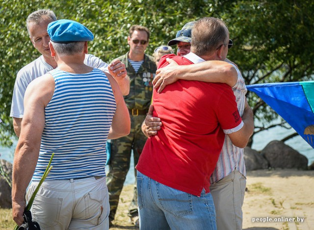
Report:
[[[93,33],[82,24],[61,19],[48,24],[47,32],[52,42],[69,43],[93,41]]]

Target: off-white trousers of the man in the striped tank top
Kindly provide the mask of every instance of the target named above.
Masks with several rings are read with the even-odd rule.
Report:
[[[37,184],[31,182],[27,201]],[[44,181],[30,209],[43,230],[108,230],[109,210],[105,177]]]

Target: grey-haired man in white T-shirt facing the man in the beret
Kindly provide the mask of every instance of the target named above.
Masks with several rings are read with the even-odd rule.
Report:
[[[56,68],[57,63],[51,56],[48,43],[50,37],[47,33],[49,23],[56,21],[55,14],[52,10],[40,9],[31,13],[26,20],[27,31],[33,46],[42,54],[36,60],[24,66],[17,74],[10,117],[13,117],[13,127],[17,136],[20,135],[21,122],[24,114],[24,95],[27,85],[36,77],[46,74],[48,71]],[[109,65],[100,58],[86,54],[84,63],[90,67],[101,69],[112,75],[123,93],[129,94],[130,79],[127,76],[127,71],[124,63],[115,59]]]

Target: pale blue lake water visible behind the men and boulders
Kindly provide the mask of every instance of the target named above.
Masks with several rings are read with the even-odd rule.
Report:
[[[253,145],[252,149],[255,149],[257,151],[261,151],[270,141],[272,140],[281,140],[285,138],[286,136],[294,133],[294,129],[286,129],[286,128],[280,128],[275,127],[271,128],[269,130],[264,130],[253,137]],[[285,142],[288,146],[295,149],[299,153],[305,155],[309,160],[309,165],[311,165],[314,162],[314,149],[305,141],[302,139],[302,137],[295,136],[288,141]],[[9,162],[13,162],[13,153],[14,153],[14,147],[12,148],[3,148],[0,147],[0,158],[5,159]],[[134,182],[134,163],[133,163],[133,157],[131,157],[131,167],[128,172],[125,184],[131,184]],[[107,168],[106,168],[107,171]]]

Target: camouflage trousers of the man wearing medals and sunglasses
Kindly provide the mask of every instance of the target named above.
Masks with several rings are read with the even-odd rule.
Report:
[[[130,116],[131,132],[128,136],[111,140],[111,158],[107,173],[107,187],[109,192],[110,214],[109,220],[114,220],[119,203],[119,197],[123,188],[124,181],[130,168],[131,150],[133,150],[134,166],[138,162],[140,153],[147,140],[141,130],[142,122],[146,115]],[[137,189],[136,189],[136,170],[134,170],[135,183],[133,200],[129,206],[129,215],[137,213]]]

